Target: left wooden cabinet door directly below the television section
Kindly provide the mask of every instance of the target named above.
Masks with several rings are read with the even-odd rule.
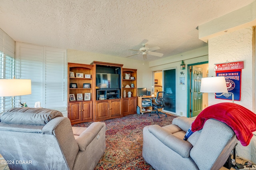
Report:
[[[108,101],[96,101],[96,120],[110,117],[109,109],[110,107]]]

